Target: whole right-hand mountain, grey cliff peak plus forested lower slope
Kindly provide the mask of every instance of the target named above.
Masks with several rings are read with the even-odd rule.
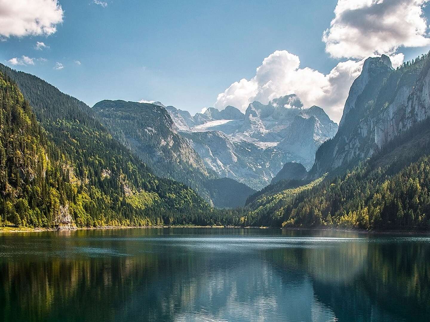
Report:
[[[313,167],[286,165],[248,198],[244,225],[427,230],[429,83],[429,54],[396,70],[385,55],[366,59]]]

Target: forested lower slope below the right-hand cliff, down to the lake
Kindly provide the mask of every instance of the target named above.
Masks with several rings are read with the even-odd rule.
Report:
[[[373,230],[430,228],[430,120],[343,175],[262,194],[244,225]]]

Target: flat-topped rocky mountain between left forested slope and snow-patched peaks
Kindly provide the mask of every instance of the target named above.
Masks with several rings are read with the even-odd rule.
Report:
[[[185,183],[210,202],[204,183],[217,176],[206,170],[188,140],[178,134],[166,109],[123,100],[102,100],[92,109],[111,133],[155,174]]]

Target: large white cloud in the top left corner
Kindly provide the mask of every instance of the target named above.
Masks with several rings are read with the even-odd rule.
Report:
[[[58,0],[0,0],[0,35],[51,35],[63,21]]]

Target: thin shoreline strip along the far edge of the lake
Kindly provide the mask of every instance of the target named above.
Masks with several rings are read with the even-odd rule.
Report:
[[[83,228],[27,228],[27,227],[0,227],[0,234],[5,233],[34,233],[34,232],[44,232],[44,231],[83,231],[83,230],[112,230],[112,229],[133,229],[133,228],[144,228],[144,229],[165,229],[165,228],[234,228],[234,229],[274,229],[281,231],[333,231],[338,233],[357,233],[357,234],[400,234],[400,235],[418,235],[426,234],[430,235],[430,231],[425,230],[387,230],[387,231],[372,231],[364,229],[354,229],[354,228],[279,228],[279,227],[269,227],[269,226],[197,226],[197,225],[179,225],[179,226],[106,226],[106,227],[83,227]]]

